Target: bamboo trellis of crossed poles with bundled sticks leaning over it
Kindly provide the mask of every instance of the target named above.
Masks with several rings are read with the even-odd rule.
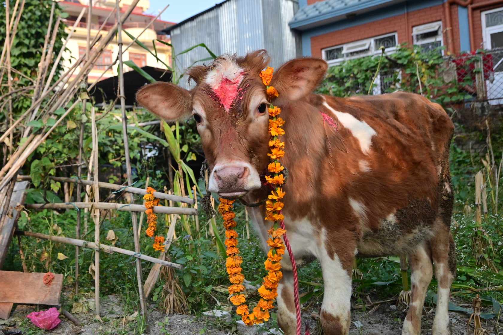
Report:
[[[123,124],[123,140],[124,140],[124,149],[125,149],[125,157],[126,157],[126,172],[127,172],[127,185],[117,185],[111,183],[100,182],[98,179],[98,130],[96,127],[96,116],[94,107],[91,110],[91,123],[92,123],[92,143],[93,150],[91,154],[91,159],[89,160],[88,165],[88,179],[81,179],[81,162],[86,160],[85,157],[82,157],[82,141],[83,141],[83,125],[80,127],[80,146],[79,146],[79,155],[78,155],[78,173],[77,178],[62,178],[62,177],[50,177],[55,181],[60,181],[64,183],[76,183],[77,184],[77,196],[76,202],[65,202],[65,203],[43,203],[43,204],[27,204],[26,208],[32,209],[59,209],[59,208],[85,208],[91,210],[93,214],[93,219],[95,222],[95,241],[84,241],[80,239],[80,214],[77,215],[76,228],[75,228],[75,239],[64,238],[58,236],[49,236],[34,232],[17,232],[18,235],[28,236],[28,237],[36,237],[41,239],[47,239],[51,241],[56,241],[60,243],[71,244],[75,246],[75,258],[76,258],[76,283],[75,283],[75,291],[78,290],[78,257],[79,257],[79,247],[83,248],[92,248],[95,249],[95,268],[96,268],[96,279],[95,279],[95,299],[96,299],[96,313],[100,313],[100,251],[106,252],[119,252],[125,255],[130,255],[136,258],[136,273],[137,273],[137,281],[138,281],[138,291],[140,295],[140,304],[141,304],[141,312],[146,321],[146,303],[145,297],[143,294],[143,285],[141,278],[141,261],[147,260],[153,263],[171,266],[178,269],[181,269],[182,266],[180,264],[167,262],[164,260],[160,260],[157,258],[153,258],[150,256],[142,255],[140,251],[139,244],[139,232],[137,226],[137,211],[144,211],[146,208],[141,204],[134,204],[133,197],[130,197],[130,203],[121,204],[121,203],[108,203],[108,202],[100,202],[100,187],[113,189],[116,191],[124,191],[128,193],[135,193],[139,195],[143,195],[146,193],[144,189],[140,189],[132,186],[132,176],[131,176],[131,164],[129,162],[129,147],[128,147],[128,136],[127,136],[127,117],[125,112],[125,97],[124,97],[124,76],[123,76],[123,62],[122,62],[122,54],[129,49],[137,39],[147,30],[151,24],[157,20],[157,18],[167,9],[166,6],[159,14],[153,18],[146,26],[145,29],[135,37],[125,48],[123,48],[122,43],[122,24],[127,20],[129,15],[133,12],[139,0],[133,0],[133,2],[127,6],[127,9],[124,12],[121,12],[119,7],[119,0],[116,0],[116,6],[113,11],[111,11],[108,17],[105,19],[101,27],[96,32],[96,36],[91,36],[91,24],[92,24],[92,16],[93,16],[93,2],[90,2],[90,6],[86,9],[82,9],[80,14],[78,15],[75,23],[70,28],[69,33],[66,39],[63,42],[63,47],[60,49],[57,56],[53,61],[53,46],[57,36],[58,28],[64,20],[61,17],[55,17],[55,3],[52,4],[51,14],[49,19],[49,24],[47,27],[47,31],[45,34],[44,46],[41,50],[41,60],[37,67],[37,77],[34,81],[34,85],[30,87],[25,87],[23,89],[13,89],[12,81],[11,81],[11,71],[16,71],[11,67],[11,47],[13,45],[13,41],[16,38],[16,32],[18,23],[21,20],[21,16],[23,13],[25,0],[22,0],[21,6],[19,6],[20,0],[16,1],[16,5],[14,7],[12,17],[10,17],[9,12],[9,1],[6,3],[6,41],[4,44],[4,48],[2,49],[2,55],[0,56],[0,64],[3,64],[4,58],[6,59],[6,64],[0,67],[0,78],[3,77],[4,73],[7,72],[8,75],[8,93],[2,95],[2,99],[5,99],[5,103],[7,103],[8,108],[8,116],[9,123],[7,130],[0,135],[0,143],[6,143],[4,146],[4,164],[2,169],[0,169],[0,191],[5,188],[4,192],[0,192],[0,206],[7,207],[10,204],[10,198],[12,194],[12,189],[14,188],[14,184],[17,180],[30,180],[29,176],[18,176],[18,173],[21,167],[26,163],[28,157],[35,152],[35,150],[48,138],[48,136],[54,131],[54,129],[60,125],[60,123],[68,116],[68,114],[77,106],[82,105],[82,110],[86,109],[87,102],[89,99],[89,95],[87,94],[96,83],[102,78],[102,76],[107,73],[108,70],[114,66],[117,62],[119,63],[119,97],[121,101],[121,111],[122,111],[122,124]],[[18,12],[19,9],[19,12]],[[80,56],[73,65],[71,65],[68,69],[64,70],[59,78],[54,81],[53,78],[57,71],[57,66],[61,60],[62,53],[65,49],[66,44],[72,37],[72,34],[75,32],[76,27],[79,25],[80,20],[83,15],[87,11],[87,50],[85,55]],[[102,34],[102,30],[104,29],[105,24],[108,22],[110,18],[114,18],[115,14],[115,24],[110,27],[108,33],[106,35]],[[99,76],[99,78],[95,81],[95,83],[88,84],[87,78],[89,72],[94,67],[94,65],[99,60],[103,51],[107,48],[107,45],[117,36],[117,43],[119,46],[119,52],[116,60],[109,64]],[[51,67],[52,64],[52,67]],[[82,90],[82,87],[85,89]],[[27,89],[33,89],[33,97],[32,104],[27,110],[25,110],[21,116],[14,120],[12,116],[12,100],[16,97],[17,94],[24,93]],[[80,92],[80,94],[77,94]],[[75,96],[78,95],[78,98]],[[4,101],[2,101],[4,103]],[[71,104],[70,104],[71,103]],[[61,106],[64,107],[64,113],[55,113],[55,111]],[[0,109],[2,109],[4,105],[0,105]],[[52,127],[43,126],[39,129],[34,129],[28,125],[30,121],[42,121],[51,118],[54,120]],[[21,138],[26,138],[22,144],[15,147],[15,142],[20,140]],[[9,157],[8,159],[6,159]],[[91,178],[91,173],[93,173],[93,178]],[[81,185],[86,185],[86,201],[81,202],[80,191]],[[89,189],[88,189],[89,187]],[[93,198],[90,199],[87,194],[88,191],[93,188]],[[169,200],[170,202],[182,202],[186,204],[195,204],[193,199],[188,197],[181,197],[171,194],[166,194],[162,192],[154,192],[153,194],[157,198]],[[108,246],[100,243],[100,209],[114,209],[114,210],[127,210],[131,211],[132,217],[132,228],[134,235],[134,244],[135,250],[125,250],[113,246]],[[181,215],[197,215],[197,207],[189,208],[189,207],[174,207],[174,206],[154,206],[154,212],[157,213],[165,213],[165,214],[181,214]],[[7,215],[7,210],[3,212],[2,215]],[[0,217],[0,222],[3,222],[5,217]],[[86,217],[85,217],[86,218]],[[87,221],[85,221],[85,232],[87,231]]]

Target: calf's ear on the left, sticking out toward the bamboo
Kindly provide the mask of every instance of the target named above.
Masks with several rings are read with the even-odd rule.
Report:
[[[143,86],[136,92],[136,101],[166,121],[185,120],[192,113],[190,92],[167,82]]]

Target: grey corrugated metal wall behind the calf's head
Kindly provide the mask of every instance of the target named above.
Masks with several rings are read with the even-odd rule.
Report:
[[[271,66],[301,56],[300,37],[288,22],[298,9],[296,0],[229,0],[171,31],[175,52],[205,43],[216,55],[266,49]],[[208,57],[204,48],[178,56],[177,67],[185,70]],[[186,78],[181,85],[188,86]]]

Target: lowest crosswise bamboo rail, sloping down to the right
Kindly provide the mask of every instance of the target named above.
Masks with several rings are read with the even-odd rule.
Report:
[[[34,237],[37,239],[44,239],[44,240],[51,240],[54,242],[58,243],[65,243],[65,244],[71,244],[74,246],[79,246],[82,248],[90,248],[90,249],[95,249],[95,250],[103,250],[107,253],[113,253],[113,252],[118,252],[124,255],[129,255],[132,257],[136,257],[138,259],[142,259],[145,261],[149,261],[152,263],[159,263],[165,266],[170,266],[172,268],[177,268],[177,269],[182,269],[183,266],[181,264],[177,263],[172,263],[172,262],[167,262],[167,261],[162,261],[154,257],[150,257],[147,255],[143,254],[138,254],[135,253],[134,251],[131,250],[126,250],[122,248],[117,248],[114,246],[109,246],[105,244],[96,244],[95,242],[90,242],[90,241],[84,241],[84,240],[77,240],[77,239],[72,239],[68,237],[63,237],[63,236],[52,236],[52,235],[46,235],[46,234],[40,234],[40,233],[33,233],[33,232],[24,232],[24,231],[16,231],[16,234],[18,235],[23,235],[23,236],[29,236],[29,237]],[[98,305],[96,305],[96,308],[98,308]]]

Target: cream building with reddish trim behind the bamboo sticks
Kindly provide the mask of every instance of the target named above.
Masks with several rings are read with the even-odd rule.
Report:
[[[132,3],[132,0],[121,0],[121,12],[124,12],[127,7]],[[67,32],[71,30],[71,27],[75,23],[82,8],[87,8],[88,0],[70,0],[70,1],[60,1],[59,5],[61,8],[68,13],[68,18],[66,18],[66,25],[68,26]],[[140,0],[136,8],[133,10],[127,21],[122,26],[132,36],[138,36],[143,29],[150,23],[150,21],[155,17],[154,15],[143,14],[148,10],[150,6],[149,0]],[[116,13],[113,13],[110,18],[105,22],[107,16],[115,8],[115,0],[98,0],[93,2],[92,18],[91,18],[91,40],[98,34],[99,28],[105,23],[103,30],[100,32],[101,35],[105,36],[108,30],[114,25],[116,20]],[[148,29],[138,38],[140,42],[150,48],[150,50],[155,54],[157,52],[157,57],[163,60],[164,63],[171,66],[171,48],[165,44],[155,41],[155,50],[152,45],[152,40],[162,40],[165,42],[170,42],[170,38],[167,35],[158,35],[157,33],[161,30],[174,25],[173,22],[167,22],[162,20],[155,20]],[[122,41],[125,48],[132,40],[128,35],[122,33]],[[75,32],[73,33],[71,39],[66,45],[68,51],[65,52],[65,63],[66,68],[70,67],[80,55],[86,53],[87,48],[87,12],[83,15],[80,23],[78,24]],[[112,40],[107,49],[102,53],[101,58],[91,70],[88,81],[94,82],[102,75],[103,71],[110,65],[117,57],[119,46],[117,45],[117,39]],[[139,67],[152,66],[158,68],[165,68],[165,66],[158,62],[155,57],[147,52],[142,47],[138,46],[136,43],[133,44],[126,52],[123,54],[123,60],[132,60]],[[124,71],[131,70],[125,66]],[[117,75],[117,65],[112,66],[100,80],[109,78]]]

